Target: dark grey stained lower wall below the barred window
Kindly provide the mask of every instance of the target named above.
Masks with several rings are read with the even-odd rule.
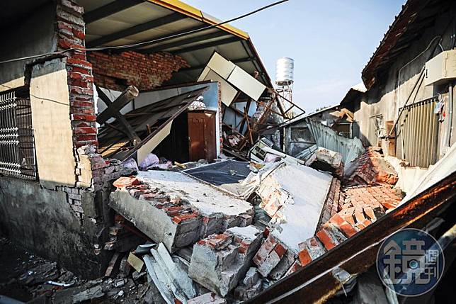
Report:
[[[0,191],[0,227],[11,240],[85,276],[100,274],[94,234],[84,229],[90,220],[81,223],[74,215],[67,193],[6,177],[0,179]],[[85,199],[93,203],[93,197]]]

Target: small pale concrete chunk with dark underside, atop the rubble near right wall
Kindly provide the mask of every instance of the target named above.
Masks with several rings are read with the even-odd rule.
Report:
[[[341,179],[343,177],[343,162],[342,154],[318,147],[309,159],[306,160],[305,165],[321,171],[329,171],[334,176]]]

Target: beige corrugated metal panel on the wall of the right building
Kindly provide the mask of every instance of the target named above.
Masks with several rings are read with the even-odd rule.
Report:
[[[411,167],[427,168],[438,155],[438,115],[434,113],[438,96],[404,107],[397,137],[396,155]]]

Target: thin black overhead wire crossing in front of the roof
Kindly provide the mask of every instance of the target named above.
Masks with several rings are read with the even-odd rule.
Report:
[[[222,26],[222,25],[224,25],[226,23],[230,23],[230,22],[242,19],[242,18],[246,18],[248,16],[253,15],[254,13],[258,13],[258,12],[263,11],[265,9],[269,9],[270,7],[276,6],[278,4],[283,4],[284,2],[287,2],[287,1],[289,1],[289,0],[276,1],[276,2],[274,2],[272,4],[268,4],[266,6],[262,6],[261,8],[256,9],[255,11],[250,11],[249,13],[244,13],[241,16],[237,16],[237,17],[229,19],[227,21],[222,21],[220,23],[216,23],[216,24],[213,24],[213,25],[210,25],[210,26],[205,26],[203,28],[198,28],[198,29],[195,29],[195,30],[188,30],[188,31],[186,31],[184,33],[173,34],[173,35],[169,35],[169,36],[158,38],[158,39],[154,39],[154,40],[147,40],[147,41],[142,41],[140,43],[132,43],[132,44],[128,44],[128,45],[113,45],[113,46],[108,46],[108,47],[89,47],[89,48],[87,48],[87,47],[72,47],[72,48],[69,48],[67,50],[62,50],[62,51],[47,52],[45,54],[40,54],[40,55],[32,55],[32,56],[27,56],[27,57],[15,58],[15,59],[11,59],[11,60],[4,60],[4,61],[1,61],[0,64],[5,64],[5,63],[9,63],[9,62],[18,62],[18,61],[22,61],[22,60],[30,60],[30,59],[35,59],[35,58],[38,58],[38,57],[45,57],[45,56],[51,56],[51,55],[64,55],[64,53],[71,52],[71,51],[75,51],[75,52],[92,52],[92,51],[101,51],[101,50],[122,50],[122,49],[125,49],[125,48],[137,48],[137,47],[142,47],[142,46],[145,46],[145,45],[152,45],[154,43],[159,43],[159,42],[164,41],[164,40],[169,40],[169,39],[173,39],[173,38],[180,38],[180,37],[185,36],[185,35],[190,35],[190,34],[193,34],[193,33],[201,32],[203,30],[209,30],[211,28],[217,28],[218,26]]]

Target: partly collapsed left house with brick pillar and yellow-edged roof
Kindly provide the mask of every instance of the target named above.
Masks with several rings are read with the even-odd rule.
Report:
[[[180,1],[21,0],[5,1],[2,8],[0,228],[67,269],[99,276],[112,255],[102,250],[114,220],[107,206],[112,181],[130,172],[107,155],[116,152],[118,159],[138,161],[142,148],[148,153],[164,140],[163,130],[172,138],[157,149],[171,155],[178,149],[172,135],[179,134],[173,131],[176,122],[195,128],[188,131],[195,137],[201,125],[192,124],[210,123],[210,134],[198,147],[210,149],[211,157],[220,154],[226,92],[217,79],[195,82],[215,51],[264,86],[272,84],[249,35],[228,24],[160,40],[217,23]],[[140,50],[77,50],[157,39]],[[130,88],[122,97],[120,114],[130,116],[109,127],[120,109],[101,99],[111,103],[128,86],[139,89],[139,96]],[[204,97],[204,109],[190,113],[180,108],[198,96]],[[141,116],[137,109],[150,109],[155,101],[163,105],[162,116],[152,115],[154,124],[144,122],[139,128],[132,116]],[[97,112],[106,114],[101,126]],[[183,113],[188,117],[179,116]],[[108,132],[125,122],[132,130]],[[192,153],[188,144],[181,149]],[[182,156],[186,158],[190,156]]]

